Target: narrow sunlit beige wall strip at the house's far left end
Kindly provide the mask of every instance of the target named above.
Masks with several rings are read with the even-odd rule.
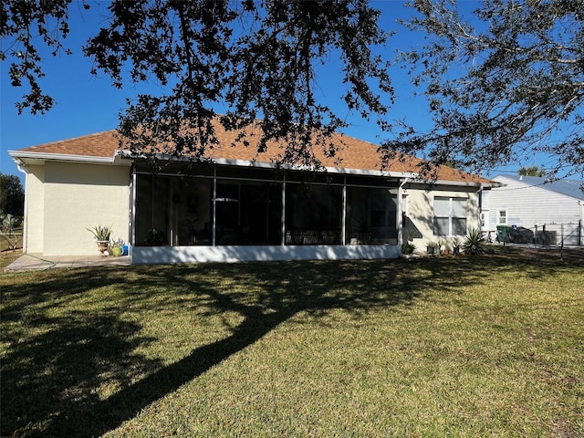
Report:
[[[26,167],[25,247],[27,253],[43,252],[45,166]]]

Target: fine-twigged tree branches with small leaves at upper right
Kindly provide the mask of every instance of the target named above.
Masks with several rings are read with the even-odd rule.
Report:
[[[584,177],[582,0],[485,0],[472,22],[462,5],[412,2],[419,14],[405,24],[427,39],[404,57],[434,124],[428,132],[403,124],[385,144],[389,155],[425,151],[480,172],[542,152],[555,161],[549,178]]]

